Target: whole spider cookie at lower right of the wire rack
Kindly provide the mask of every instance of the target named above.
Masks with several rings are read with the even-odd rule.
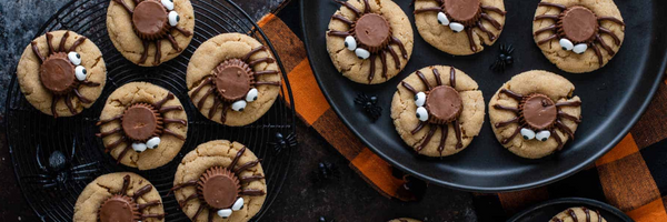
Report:
[[[202,143],[178,165],[171,189],[192,221],[249,221],[267,193],[261,163],[246,145],[227,140]]]

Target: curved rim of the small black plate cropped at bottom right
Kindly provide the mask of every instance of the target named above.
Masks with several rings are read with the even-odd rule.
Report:
[[[550,201],[546,201],[542,202],[536,206],[526,209],[524,211],[521,211],[520,213],[516,214],[515,216],[511,216],[511,219],[507,220],[507,222],[517,222],[517,220],[526,216],[527,214],[534,212],[534,211],[539,211],[542,208],[549,206],[549,205],[554,205],[554,204],[573,204],[573,206],[576,206],[576,204],[589,204],[589,205],[595,205],[599,209],[604,209],[609,213],[613,213],[614,215],[616,215],[617,218],[623,219],[626,222],[635,222],[633,219],[630,219],[630,216],[628,216],[627,214],[625,214],[624,212],[621,212],[620,210],[614,208],[613,205],[609,205],[605,202],[600,202],[597,200],[593,200],[593,199],[586,199],[586,198],[561,198],[561,199],[556,199],[556,200],[550,200]]]

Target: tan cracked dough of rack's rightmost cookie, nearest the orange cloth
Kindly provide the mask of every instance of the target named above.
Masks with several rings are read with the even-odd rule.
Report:
[[[197,49],[197,51],[195,51],[192,58],[190,59],[190,63],[188,64],[188,74],[186,80],[190,100],[198,105],[201,98],[205,97],[203,92],[208,91],[212,85],[201,85],[202,88],[200,88],[199,91],[201,93],[195,94],[193,92],[198,87],[200,87],[200,84],[205,82],[206,78],[213,75],[213,70],[216,67],[228,59],[242,58],[252,49],[261,46],[262,44],[256,39],[241,33],[219,34],[203,42]],[[249,59],[257,60],[260,58],[272,59],[273,57],[271,53],[269,53],[267,48],[267,50],[253,53]],[[252,67],[252,70],[255,72],[270,70],[278,71],[278,74],[259,75],[256,78],[256,81],[281,81],[281,75],[276,62],[259,62]],[[207,97],[203,100],[201,108],[198,110],[203,117],[226,125],[239,127],[250,124],[269,111],[280,93],[280,87],[277,85],[256,85],[256,89],[258,90],[258,99],[253,102],[248,102],[247,107],[241,112],[233,111],[232,109],[227,109],[223,111],[223,109],[221,109],[222,104],[215,102],[215,97]],[[213,93],[213,95],[216,95],[216,93]],[[212,113],[211,118],[209,118],[209,111],[211,109],[216,109],[216,111]],[[221,121],[222,112],[226,112],[225,122]]]

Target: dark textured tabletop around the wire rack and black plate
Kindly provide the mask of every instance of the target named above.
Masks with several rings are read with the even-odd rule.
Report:
[[[9,84],[9,71],[16,65],[22,49],[32,39],[39,27],[54,9],[67,1],[60,0],[4,0],[0,1],[0,113],[4,113],[4,90]],[[281,0],[237,1],[251,17],[259,20],[268,11],[275,10]],[[296,2],[290,3],[290,12],[296,11]],[[295,13],[296,14],[296,13]],[[286,21],[297,23],[298,21]],[[300,34],[300,30],[295,30]],[[279,46],[277,46],[279,47]],[[2,117],[0,114],[0,123]],[[0,128],[0,221],[37,221],[26,204],[11,165],[4,139],[4,128]],[[299,147],[295,152],[292,169],[276,202],[263,221],[317,221],[320,215],[336,221],[387,221],[399,216],[411,216],[425,221],[476,221],[470,194],[439,186],[430,186],[424,200],[406,203],[389,200],[370,188],[356,172],[348,168],[348,161],[318,135],[315,130],[298,123]],[[338,173],[329,180],[315,180],[317,165],[321,161],[331,162]]]

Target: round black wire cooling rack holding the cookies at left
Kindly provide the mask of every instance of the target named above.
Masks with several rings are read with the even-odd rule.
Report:
[[[195,37],[190,46],[177,58],[155,68],[142,68],[126,60],[111,43],[107,27],[107,8],[111,0],[72,0],[52,16],[36,38],[53,30],[71,30],[88,37],[102,51],[107,63],[107,84],[96,103],[71,118],[53,119],[32,108],[21,93],[16,75],[8,89],[6,123],[9,150],[14,171],[28,203],[42,221],[71,221],[79,193],[94,178],[110,172],[136,172],[148,179],[162,195],[166,221],[190,221],[179,209],[176,198],[167,196],[172,186],[173,174],[182,157],[203,142],[227,139],[246,144],[262,159],[268,186],[262,210],[253,218],[259,220],[271,205],[285,182],[290,167],[290,149],[276,151],[272,142],[276,134],[283,137],[296,133],[293,99],[285,68],[272,44],[252,19],[231,0],[191,0],[195,9]],[[186,70],[189,58],[206,40],[226,32],[247,33],[268,46],[277,59],[285,87],[273,107],[257,122],[230,128],[206,119],[197,111],[187,94]],[[28,42],[26,42],[28,46]],[[11,73],[16,73],[16,68]],[[117,88],[135,81],[146,81],[173,92],[188,114],[188,139],[180,153],[167,165],[138,171],[121,164],[103,152],[102,141],[94,137],[104,101]],[[70,153],[73,140],[77,154],[73,165],[99,161],[99,172],[88,180],[67,183],[61,192],[42,189],[27,176],[40,173],[37,165],[37,145],[48,158],[56,150]]]

